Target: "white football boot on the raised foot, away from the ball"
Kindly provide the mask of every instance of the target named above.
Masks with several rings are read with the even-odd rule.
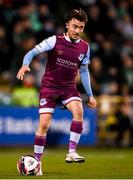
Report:
[[[83,163],[85,161],[85,158],[80,156],[79,154],[77,154],[74,151],[74,152],[70,152],[66,155],[65,161],[66,161],[66,163],[72,163],[72,162]]]

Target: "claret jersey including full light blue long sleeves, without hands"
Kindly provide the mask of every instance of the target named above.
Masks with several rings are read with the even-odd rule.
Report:
[[[87,95],[92,95],[89,72],[86,68],[84,70],[90,62],[90,47],[87,42],[82,39],[71,42],[65,34],[51,36],[27,53],[23,65],[29,65],[35,55],[43,52],[48,53],[48,59],[41,87],[76,86],[75,78],[80,69]]]

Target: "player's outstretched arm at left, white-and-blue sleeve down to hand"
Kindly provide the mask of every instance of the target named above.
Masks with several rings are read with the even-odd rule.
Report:
[[[43,52],[50,51],[51,49],[53,49],[55,43],[56,36],[52,36],[45,39],[40,44],[36,45],[35,48],[30,50],[23,58],[23,64],[17,73],[17,79],[23,80],[25,73],[30,71],[29,65],[32,59]]]

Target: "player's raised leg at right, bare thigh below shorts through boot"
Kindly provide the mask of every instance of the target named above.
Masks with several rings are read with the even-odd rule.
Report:
[[[76,153],[76,147],[79,143],[83,129],[83,107],[81,101],[73,100],[66,107],[72,112],[73,120],[70,126],[69,153],[66,156],[66,162],[84,162],[84,157]]]

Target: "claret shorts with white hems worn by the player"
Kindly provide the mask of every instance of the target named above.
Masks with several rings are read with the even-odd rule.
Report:
[[[44,87],[40,90],[39,113],[54,113],[58,103],[65,106],[73,100],[81,101],[80,93],[75,87],[60,89]]]

